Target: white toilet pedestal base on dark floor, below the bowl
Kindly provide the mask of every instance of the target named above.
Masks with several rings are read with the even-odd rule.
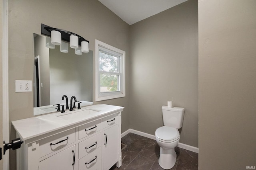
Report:
[[[175,165],[176,158],[177,154],[174,148],[165,149],[161,147],[158,164],[164,169],[171,169]]]

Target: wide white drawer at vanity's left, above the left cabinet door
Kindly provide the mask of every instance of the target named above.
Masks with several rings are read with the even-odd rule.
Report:
[[[47,137],[39,141],[39,157],[45,156],[76,141],[75,129]]]

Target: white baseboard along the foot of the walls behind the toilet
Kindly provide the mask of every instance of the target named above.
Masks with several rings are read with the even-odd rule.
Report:
[[[147,137],[149,139],[154,139],[156,140],[156,137],[155,135],[150,135],[148,133],[144,133],[144,132],[141,132],[141,131],[136,131],[134,129],[128,129],[127,131],[125,131],[124,133],[121,134],[121,137],[124,137],[125,135],[127,135],[128,133],[134,133],[136,135],[140,135],[140,136],[143,136],[143,137]],[[179,148],[182,148],[182,149],[186,149],[186,150],[190,150],[192,152],[196,152],[196,153],[199,153],[199,149],[197,147],[193,147],[193,146],[190,146],[190,145],[186,145],[184,143],[178,143],[178,146]]]

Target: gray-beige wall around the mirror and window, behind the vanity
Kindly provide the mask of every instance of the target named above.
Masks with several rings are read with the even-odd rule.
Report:
[[[10,123],[33,116],[33,93],[15,93],[15,80],[33,80],[33,33],[41,34],[44,23],[81,35],[90,41],[92,51],[95,39],[126,51],[126,97],[95,104],[124,106],[122,132],[129,129],[129,25],[97,0],[9,0],[8,4]],[[10,139],[14,138],[10,125]],[[11,170],[16,169],[15,154],[10,150]]]

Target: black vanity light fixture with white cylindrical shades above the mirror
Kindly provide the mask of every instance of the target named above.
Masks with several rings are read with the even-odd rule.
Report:
[[[60,35],[62,41],[59,41],[59,38],[58,38],[58,41],[53,40],[53,36],[55,36],[55,33],[58,34],[58,37]],[[72,33],[70,31],[66,31],[66,30],[58,29],[58,28],[52,28],[52,27],[49,27],[49,26],[44,25],[44,24],[41,23],[41,34],[48,36],[48,37],[46,37],[46,41],[49,37],[52,37],[52,43],[55,43],[55,45],[60,45],[60,51],[63,52],[63,53],[68,52],[68,48],[67,48],[67,51],[65,51],[65,50],[62,51],[62,49],[65,46],[65,45],[62,45],[62,44],[65,43],[63,41],[66,41],[66,42],[70,43],[71,48],[78,49],[78,47],[80,47],[80,49],[76,50],[76,54],[78,54],[78,55],[81,55],[82,52],[83,53],[88,53],[89,52],[89,41],[84,39],[80,35],[77,35],[77,34]],[[51,47],[49,45],[48,45],[48,48]],[[54,45],[54,48],[55,48],[55,45]],[[46,47],[47,47],[47,45],[46,45]]]

